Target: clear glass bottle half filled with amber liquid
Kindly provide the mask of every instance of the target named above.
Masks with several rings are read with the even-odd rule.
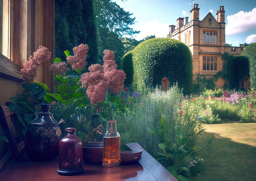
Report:
[[[107,121],[107,132],[103,135],[103,167],[114,167],[121,163],[120,134],[116,131],[116,121]]]

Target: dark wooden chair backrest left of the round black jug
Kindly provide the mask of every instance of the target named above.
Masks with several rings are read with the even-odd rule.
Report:
[[[8,106],[0,105],[0,124],[9,141],[14,156],[20,158],[24,148],[24,136],[19,128],[19,120],[15,112],[10,111]]]

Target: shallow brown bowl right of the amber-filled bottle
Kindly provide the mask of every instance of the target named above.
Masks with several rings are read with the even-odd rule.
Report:
[[[135,163],[140,160],[142,150],[139,151],[121,151],[121,164]]]

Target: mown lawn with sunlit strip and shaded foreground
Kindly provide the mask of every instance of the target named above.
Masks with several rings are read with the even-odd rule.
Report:
[[[188,180],[255,181],[256,123],[225,121],[204,128],[196,141],[204,161]]]

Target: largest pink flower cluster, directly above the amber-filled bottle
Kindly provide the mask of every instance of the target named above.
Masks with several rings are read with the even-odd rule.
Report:
[[[82,87],[87,87],[87,96],[93,104],[104,101],[108,89],[114,94],[121,92],[126,78],[123,70],[116,69],[114,52],[104,50],[103,53],[103,65],[91,65],[88,68],[90,72],[82,74],[80,78]]]

